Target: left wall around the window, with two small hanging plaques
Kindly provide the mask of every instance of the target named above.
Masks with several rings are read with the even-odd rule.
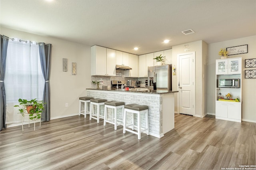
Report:
[[[78,115],[78,98],[86,96],[91,87],[90,46],[48,38],[1,27],[1,35],[52,44],[50,70],[51,119]],[[68,71],[62,71],[62,58],[68,59]],[[72,62],[76,63],[76,75],[72,75]],[[68,107],[65,107],[68,103]]]

